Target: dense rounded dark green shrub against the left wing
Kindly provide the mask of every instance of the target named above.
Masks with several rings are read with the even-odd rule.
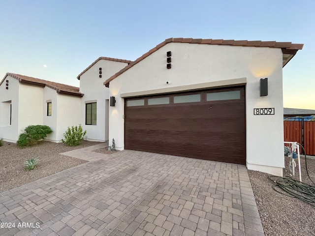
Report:
[[[20,134],[19,140],[16,142],[18,147],[33,146],[39,140],[45,139],[48,134],[53,131],[47,125],[29,125],[24,132]]]

